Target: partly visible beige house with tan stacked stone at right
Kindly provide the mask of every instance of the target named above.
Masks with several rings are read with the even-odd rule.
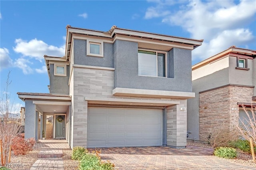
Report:
[[[205,141],[212,128],[233,126],[237,114],[243,119],[241,105],[256,105],[256,50],[232,46],[193,65],[192,84],[196,97],[188,99],[188,138]]]

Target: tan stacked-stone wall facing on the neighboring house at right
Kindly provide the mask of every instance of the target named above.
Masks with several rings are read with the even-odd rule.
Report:
[[[251,103],[252,87],[226,86],[199,94],[199,140],[208,140],[211,129],[234,125],[239,119],[238,102]],[[231,110],[236,108],[236,110]]]

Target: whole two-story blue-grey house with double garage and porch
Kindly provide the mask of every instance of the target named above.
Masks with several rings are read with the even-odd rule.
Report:
[[[25,101],[25,137],[37,136],[41,113],[40,138],[52,116],[53,138],[71,147],[184,148],[191,51],[201,44],[116,26],[67,26],[66,55],[44,56],[50,93],[17,93]]]

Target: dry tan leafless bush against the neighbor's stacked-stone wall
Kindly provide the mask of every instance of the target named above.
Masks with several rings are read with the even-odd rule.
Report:
[[[230,141],[237,140],[239,136],[238,130],[229,124],[212,127],[208,136],[209,144],[215,148],[220,146],[228,146]]]

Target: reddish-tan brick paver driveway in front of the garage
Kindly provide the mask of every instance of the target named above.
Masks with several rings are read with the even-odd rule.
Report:
[[[198,146],[187,146],[186,149],[172,149],[164,146],[98,149],[102,150],[100,154],[102,160],[110,160],[119,170],[256,170],[251,166],[212,156],[212,148]]]

